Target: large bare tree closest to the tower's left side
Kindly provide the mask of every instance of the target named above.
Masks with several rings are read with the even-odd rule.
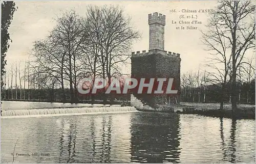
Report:
[[[99,43],[100,65],[102,67],[102,78],[108,78],[108,85],[111,85],[112,77],[121,75],[120,66],[124,65],[130,58],[132,42],[140,38],[139,32],[134,31],[131,26],[131,18],[124,16],[119,6],[89,7],[88,18],[92,19],[92,28],[97,24],[98,29],[93,36],[97,37]],[[89,27],[89,29],[92,29]],[[93,39],[95,42],[95,38]],[[104,98],[104,101],[106,99]],[[111,96],[111,102],[113,97]]]

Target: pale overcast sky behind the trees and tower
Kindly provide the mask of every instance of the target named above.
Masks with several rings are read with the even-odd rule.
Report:
[[[119,4],[124,12],[131,16],[133,26],[142,33],[140,41],[135,43],[132,51],[148,50],[149,26],[148,14],[159,12],[166,15],[165,25],[165,50],[180,53],[181,73],[191,69],[197,70],[204,64],[207,56],[204,46],[200,41],[199,30],[177,30],[181,24],[172,24],[172,21],[181,20],[180,15],[197,16],[202,24],[194,25],[198,29],[204,28],[207,23],[207,13],[182,13],[182,9],[199,10],[214,9],[216,1],[193,2],[15,2],[18,10],[14,13],[9,33],[12,39],[7,52],[7,69],[15,61],[28,58],[28,52],[32,48],[32,42],[45,38],[55,25],[56,15],[74,9],[80,16],[84,16],[89,4]],[[177,13],[170,12],[176,9]],[[179,12],[180,11],[180,12]],[[183,19],[192,20],[192,19]],[[186,25],[183,25],[186,26]],[[200,64],[201,63],[201,64]],[[202,67],[202,66],[201,66]],[[131,68],[124,68],[123,72],[129,73]]]

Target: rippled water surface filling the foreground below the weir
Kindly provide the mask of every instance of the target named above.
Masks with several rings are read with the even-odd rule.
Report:
[[[128,113],[2,120],[2,162],[254,162],[254,120]]]

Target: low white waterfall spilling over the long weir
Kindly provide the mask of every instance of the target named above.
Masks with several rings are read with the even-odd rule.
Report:
[[[51,108],[51,109],[34,109],[34,110],[6,110],[2,111],[1,118],[16,117],[47,117],[47,116],[66,116],[66,115],[88,115],[102,113],[126,113],[136,112],[133,106],[112,106],[105,105],[102,107],[81,107],[81,108]]]

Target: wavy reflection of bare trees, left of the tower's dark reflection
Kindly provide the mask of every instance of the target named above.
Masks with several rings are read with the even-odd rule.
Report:
[[[82,126],[82,122],[79,122],[80,130],[89,133],[80,133],[81,138],[78,141],[76,140],[78,122],[65,123],[62,121],[62,132],[59,139],[59,163],[73,163],[77,160],[82,160],[82,162],[111,162],[112,117],[92,117],[88,121],[90,122],[88,126],[86,124]],[[79,142],[82,142],[82,147],[76,147]]]

